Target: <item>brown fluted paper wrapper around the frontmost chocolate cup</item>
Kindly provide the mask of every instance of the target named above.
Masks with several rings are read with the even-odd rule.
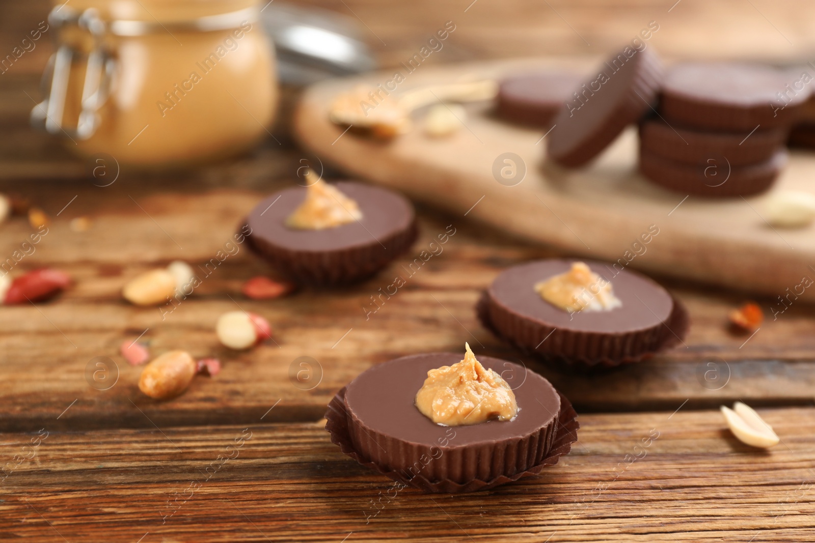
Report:
[[[466,481],[465,483],[459,483],[450,479],[430,480],[421,473],[408,478],[400,471],[391,470],[385,466],[381,466],[377,462],[372,462],[355,448],[354,443],[351,441],[350,432],[348,431],[348,416],[343,399],[345,393],[346,388],[342,388],[340,392],[337,392],[337,395],[328,403],[328,410],[325,413],[325,429],[331,435],[331,442],[338,445],[342,453],[347,454],[350,458],[354,458],[361,465],[376,470],[391,480],[398,481],[413,488],[418,488],[425,493],[475,492],[495,488],[501,484],[512,483],[513,481],[531,477],[532,475],[540,475],[544,467],[554,466],[562,455],[568,454],[571,451],[571,444],[577,441],[577,431],[580,427],[580,423],[577,421],[577,413],[575,413],[571,402],[566,399],[566,396],[558,392],[561,410],[557,418],[557,423],[554,425],[557,429],[553,436],[551,447],[548,449],[548,453],[546,453],[545,457],[535,464],[535,466],[531,466],[528,470],[513,475],[499,475],[492,480],[474,479]]]

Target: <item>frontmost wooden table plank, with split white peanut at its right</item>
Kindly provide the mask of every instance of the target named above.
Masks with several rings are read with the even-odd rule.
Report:
[[[32,458],[2,482],[0,532],[72,543],[810,541],[815,409],[762,415],[782,438],[769,452],[735,440],[717,411],[584,415],[579,443],[544,475],[460,495],[394,490],[342,455],[323,423],[50,431],[33,448],[36,433],[3,434],[3,462]]]

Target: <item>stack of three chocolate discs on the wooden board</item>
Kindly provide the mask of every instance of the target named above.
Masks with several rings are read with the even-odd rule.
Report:
[[[656,115],[640,125],[640,172],[686,195],[767,190],[786,163],[786,136],[808,90],[791,74],[734,63],[681,63],[667,71]]]

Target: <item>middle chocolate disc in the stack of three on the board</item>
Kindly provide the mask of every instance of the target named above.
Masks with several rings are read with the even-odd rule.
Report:
[[[645,120],[640,125],[643,153],[706,167],[710,159],[724,163],[724,157],[731,166],[764,162],[778,152],[785,138],[783,129],[756,130],[752,134],[703,132],[667,125],[659,119]]]

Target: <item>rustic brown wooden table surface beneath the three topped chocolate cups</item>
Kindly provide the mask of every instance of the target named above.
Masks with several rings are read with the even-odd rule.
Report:
[[[364,15],[363,2],[350,3]],[[42,3],[15,9],[35,20]],[[14,33],[6,26],[0,43]],[[95,186],[86,164],[28,128],[25,93],[38,98],[45,56],[0,76],[0,190],[51,217],[15,272],[53,266],[76,285],[48,303],[0,308],[0,541],[815,540],[810,306],[735,336],[726,314],[748,294],[658,278],[689,308],[685,345],[620,370],[569,373],[518,357],[473,312],[501,269],[555,253],[421,208],[412,252],[358,287],[247,300],[240,285],[267,270],[241,247],[162,320],[126,304],[122,284],[175,259],[205,265],[262,195],[290,183],[306,153],[271,141],[193,173],[123,171]],[[70,230],[81,216],[91,230]],[[370,296],[447,225],[456,234],[444,252],[366,319]],[[30,231],[22,217],[0,227],[0,258]],[[239,307],[267,317],[274,341],[249,353],[219,347],[214,322]],[[139,368],[118,355],[139,335],[152,353],[185,348],[220,357],[223,370],[173,401],[152,401],[136,387]],[[325,405],[372,364],[460,351],[465,341],[524,361],[565,392],[580,414],[579,442],[518,484],[394,497],[390,480],[330,443]],[[308,387],[289,378],[302,356],[317,361]],[[95,357],[112,360],[108,390],[86,379]],[[738,399],[760,407],[781,444],[760,452],[734,439],[717,407]],[[241,436],[238,453],[227,453]],[[659,437],[632,462],[646,436]]]

